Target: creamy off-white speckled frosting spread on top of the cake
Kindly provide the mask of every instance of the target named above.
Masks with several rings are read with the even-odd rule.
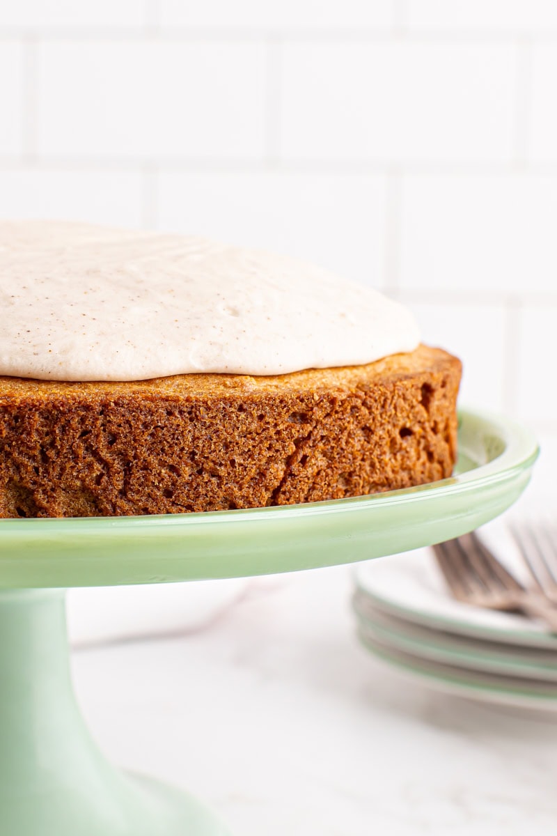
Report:
[[[147,380],[371,363],[412,314],[294,258],[200,237],[0,222],[0,375]]]

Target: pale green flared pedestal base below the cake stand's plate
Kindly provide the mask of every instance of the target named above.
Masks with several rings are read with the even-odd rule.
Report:
[[[227,836],[195,798],[119,772],[73,695],[63,592],[0,591],[0,836]]]

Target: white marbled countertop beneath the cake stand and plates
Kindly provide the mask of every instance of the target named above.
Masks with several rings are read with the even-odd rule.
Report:
[[[74,652],[94,735],[236,836],[554,836],[557,720],[409,685],[357,644],[350,590],[347,567],[254,580],[205,630]]]

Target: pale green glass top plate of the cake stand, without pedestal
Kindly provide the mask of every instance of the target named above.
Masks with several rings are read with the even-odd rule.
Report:
[[[152,517],[0,520],[0,586],[145,584],[291,572],[437,543],[497,517],[538,447],[506,418],[463,410],[453,477],[305,505]]]

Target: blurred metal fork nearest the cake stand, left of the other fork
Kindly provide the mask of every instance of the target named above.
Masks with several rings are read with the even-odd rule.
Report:
[[[549,599],[541,584],[534,589],[519,584],[476,533],[438,543],[433,546],[433,553],[448,588],[458,601],[523,613],[543,621],[557,633],[557,597]]]

